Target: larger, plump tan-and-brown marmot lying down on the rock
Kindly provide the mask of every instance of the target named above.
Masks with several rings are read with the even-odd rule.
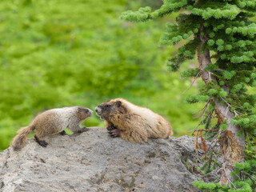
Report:
[[[170,123],[145,107],[115,98],[95,108],[111,137],[129,142],[146,142],[148,138],[168,138],[173,134]]]

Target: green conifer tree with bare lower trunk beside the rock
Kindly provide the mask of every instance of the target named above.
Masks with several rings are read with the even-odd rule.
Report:
[[[144,7],[121,16],[130,22],[146,22],[180,11],[175,23],[167,23],[159,44],[175,45],[186,39],[167,61],[171,70],[198,59],[198,67],[183,74],[201,77],[205,84],[187,100],[206,103],[199,124],[219,141],[222,184],[234,180],[230,173],[235,162],[244,162],[246,138],[256,136],[256,97],[247,91],[256,86],[256,24],[250,19],[255,9],[255,0],[163,0],[158,10]],[[215,117],[218,121],[213,121]]]

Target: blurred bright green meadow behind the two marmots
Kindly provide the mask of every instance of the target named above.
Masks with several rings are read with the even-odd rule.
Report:
[[[162,5],[160,0],[2,0],[0,2],[0,150],[39,111],[94,107],[126,98],[170,121],[174,136],[189,134],[200,108],[182,94],[190,79],[170,73],[177,47],[158,47],[166,22],[119,19],[122,11]],[[182,67],[196,65],[191,61]],[[102,126],[94,114],[86,126]]]

